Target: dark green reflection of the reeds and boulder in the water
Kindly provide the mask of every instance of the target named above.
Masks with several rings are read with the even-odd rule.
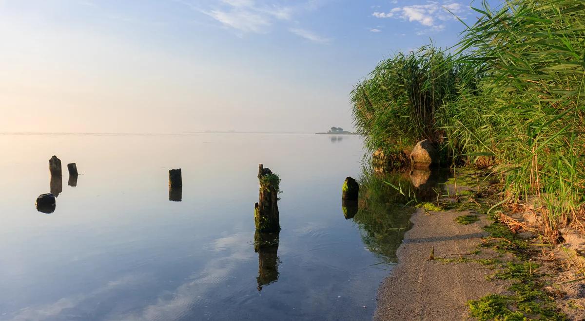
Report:
[[[384,261],[396,262],[396,250],[411,228],[412,201],[428,201],[443,193],[448,172],[397,170],[360,177],[359,211],[353,218],[367,249]],[[389,184],[388,184],[389,183]]]

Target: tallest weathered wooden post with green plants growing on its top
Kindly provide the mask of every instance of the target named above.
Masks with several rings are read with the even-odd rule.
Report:
[[[258,166],[260,200],[254,205],[256,231],[270,233],[280,231],[278,217],[278,191],[280,178],[264,165]]]

